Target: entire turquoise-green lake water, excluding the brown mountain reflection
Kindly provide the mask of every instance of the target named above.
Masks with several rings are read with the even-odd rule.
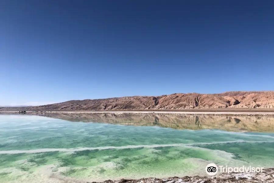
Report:
[[[274,133],[177,130],[29,115],[0,115],[0,125],[0,182],[206,175],[209,163],[274,167]]]

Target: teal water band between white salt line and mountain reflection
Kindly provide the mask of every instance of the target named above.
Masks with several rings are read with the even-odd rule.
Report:
[[[107,128],[102,126],[107,126]],[[99,128],[100,131],[98,131],[97,128]],[[82,129],[81,133],[79,133],[80,129]],[[68,124],[68,127],[60,128],[58,131],[54,130],[54,133],[52,130],[46,128],[35,128],[32,130],[16,131],[16,133],[14,133],[14,131],[0,131],[0,134],[2,134],[2,137],[0,137],[0,151],[44,148],[59,149],[106,146],[118,147],[126,145],[211,143],[239,140],[274,141],[274,138],[271,136],[248,135],[214,130],[191,131],[160,127],[134,127],[92,123]],[[11,140],[7,142],[5,140],[6,138]]]

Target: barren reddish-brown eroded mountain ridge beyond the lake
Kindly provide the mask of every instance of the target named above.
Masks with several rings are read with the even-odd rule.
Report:
[[[274,108],[274,91],[229,91],[220,94],[174,93],[161,96],[132,96],[108,99],[70,100],[29,107],[0,107],[16,110],[121,110],[121,109],[206,109]]]

